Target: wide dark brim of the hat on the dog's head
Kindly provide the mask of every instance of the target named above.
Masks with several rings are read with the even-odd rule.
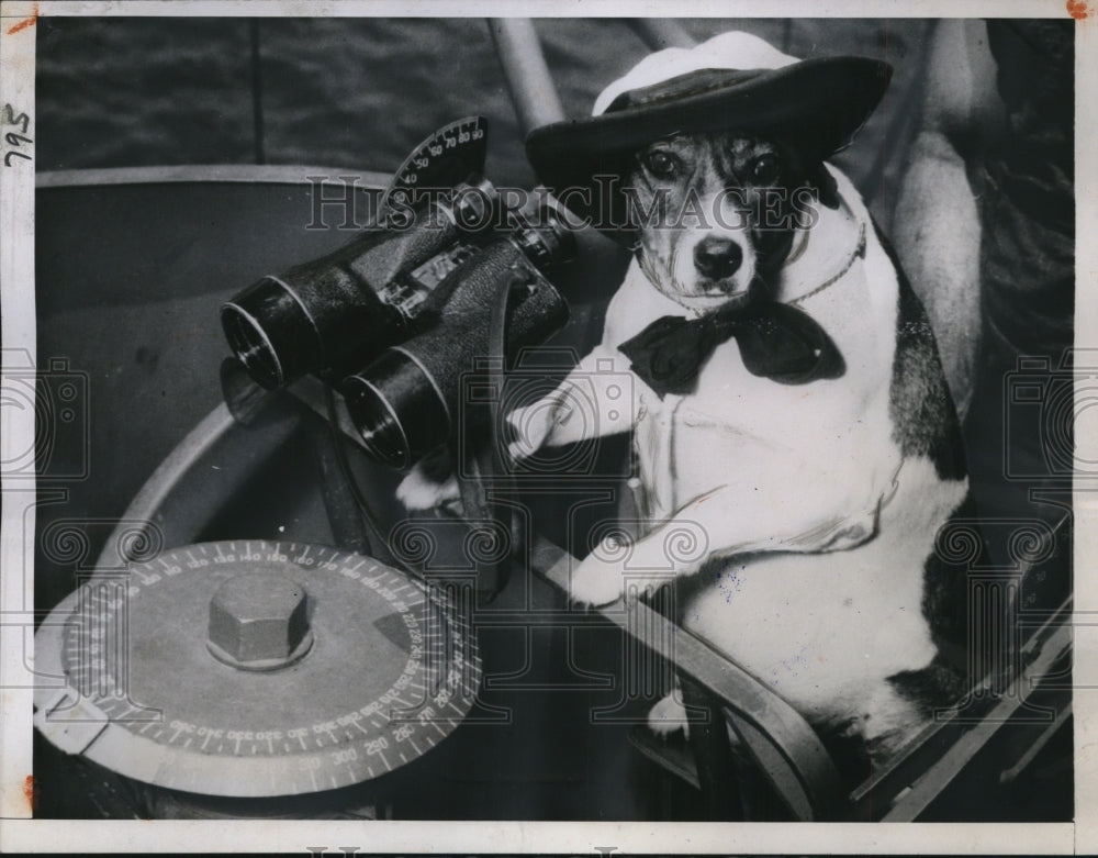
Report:
[[[822,160],[851,141],[890,77],[887,63],[856,56],[739,73],[725,86],[534,129],[526,154],[538,179],[558,192],[591,187],[595,176],[623,176],[632,153],[674,134],[770,134]]]

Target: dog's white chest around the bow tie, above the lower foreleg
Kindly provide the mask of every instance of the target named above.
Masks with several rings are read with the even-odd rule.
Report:
[[[795,300],[836,343],[841,377],[787,385],[754,376],[733,338],[717,346],[687,395],[660,399],[638,380],[634,438],[641,508],[653,522],[729,484],[743,491],[742,514],[775,517],[780,511],[752,506],[757,492],[782,504],[822,493],[841,511],[884,491],[899,467],[888,412],[898,287],[866,221],[864,211],[825,215],[773,285],[780,299],[807,296]],[[683,312],[631,270],[604,343],[616,347],[653,319]]]

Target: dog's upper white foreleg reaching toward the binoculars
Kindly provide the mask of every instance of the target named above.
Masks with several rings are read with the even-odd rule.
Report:
[[[508,452],[523,459],[542,446],[628,432],[636,413],[632,381],[628,361],[617,349],[595,346],[552,393],[507,415],[515,432]]]

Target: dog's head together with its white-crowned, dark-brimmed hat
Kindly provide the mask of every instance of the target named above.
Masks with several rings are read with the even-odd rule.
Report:
[[[704,312],[773,285],[797,230],[818,205],[838,207],[825,161],[865,122],[890,71],[721,33],[643,57],[600,92],[591,116],[534,129],[526,153],[563,204],[632,243],[657,289]]]

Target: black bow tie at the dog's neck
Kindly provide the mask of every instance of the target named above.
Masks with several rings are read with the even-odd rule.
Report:
[[[764,301],[701,319],[665,315],[618,346],[632,371],[663,399],[691,393],[713,350],[736,337],[748,371],[783,385],[839,378],[847,365],[834,342],[807,313]]]

